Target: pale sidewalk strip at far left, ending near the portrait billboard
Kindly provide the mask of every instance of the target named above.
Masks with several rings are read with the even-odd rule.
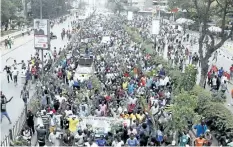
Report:
[[[1,44],[0,46],[0,52],[1,52],[1,56],[6,55],[8,52],[11,52],[15,49],[17,49],[18,47],[24,45],[27,42],[30,42],[33,40],[33,34],[31,34],[30,36],[25,35],[24,37],[19,37],[16,38],[14,40],[14,44],[12,45],[11,49],[9,48],[5,48],[4,43]]]

